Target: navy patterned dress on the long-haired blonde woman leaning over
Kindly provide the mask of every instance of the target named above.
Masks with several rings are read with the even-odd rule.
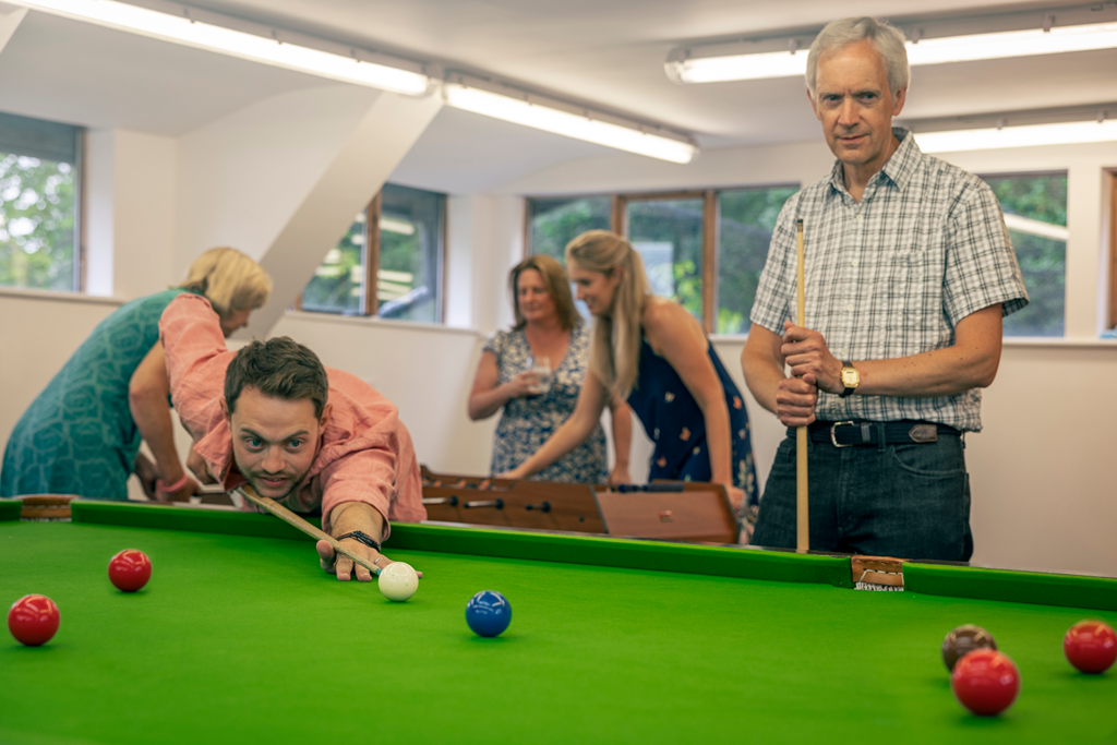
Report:
[[[742,543],[752,536],[760,509],[756,490],[756,469],[753,466],[752,433],[745,401],[729,378],[725,365],[708,345],[709,361],[725,389],[725,403],[729,410],[729,440],[732,443],[733,485],[744,489],[744,514],[738,515]],[[647,338],[640,343],[640,376],[629,394],[628,403],[640,418],[645,431],[655,443],[651,455],[650,479],[708,481],[712,476],[709,446],[706,442],[706,420],[701,408],[675,367],[656,354]]]

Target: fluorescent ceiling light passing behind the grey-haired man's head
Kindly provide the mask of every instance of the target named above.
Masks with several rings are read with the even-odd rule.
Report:
[[[1037,28],[908,41],[907,52],[908,64],[917,66],[1114,47],[1117,47],[1117,23],[1092,23],[1054,27],[1050,31]],[[693,51],[671,52],[663,65],[669,78],[678,83],[719,83],[806,74],[806,50],[689,57]]]

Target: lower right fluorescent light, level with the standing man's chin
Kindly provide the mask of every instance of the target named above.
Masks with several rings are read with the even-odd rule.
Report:
[[[1117,120],[1030,124],[987,130],[916,132],[915,141],[925,153],[956,153],[968,150],[1069,145],[1083,142],[1117,141]]]

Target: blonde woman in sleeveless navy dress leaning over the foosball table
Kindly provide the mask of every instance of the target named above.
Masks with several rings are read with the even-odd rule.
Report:
[[[577,447],[619,397],[655,443],[649,477],[725,486],[746,542],[758,505],[748,414],[706,333],[678,303],[652,295],[640,254],[615,233],[582,233],[566,246],[566,266],[596,319],[590,376],[566,423],[503,476],[525,478]]]

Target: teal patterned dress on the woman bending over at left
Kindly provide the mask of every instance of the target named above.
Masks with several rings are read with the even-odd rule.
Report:
[[[16,423],[0,468],[0,497],[127,499],[141,440],[128,384],[159,341],[163,309],[183,292],[133,300],[93,329]]]

